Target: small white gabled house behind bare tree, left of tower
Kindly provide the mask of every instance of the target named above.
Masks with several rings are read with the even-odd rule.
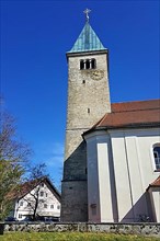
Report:
[[[37,219],[60,218],[60,194],[48,177],[26,182],[14,194],[13,217],[18,220],[33,217]]]

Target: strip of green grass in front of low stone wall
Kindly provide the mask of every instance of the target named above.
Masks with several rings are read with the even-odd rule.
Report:
[[[160,238],[91,232],[8,232],[0,241],[160,241]]]

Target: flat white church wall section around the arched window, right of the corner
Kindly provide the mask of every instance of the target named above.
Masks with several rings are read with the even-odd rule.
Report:
[[[152,145],[160,142],[159,129],[110,131],[114,157],[119,221],[148,216],[146,188],[155,172]]]

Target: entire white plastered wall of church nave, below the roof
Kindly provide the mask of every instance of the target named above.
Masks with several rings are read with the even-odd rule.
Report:
[[[160,174],[155,171],[152,153],[152,146],[160,142],[160,130],[101,130],[89,134],[85,139],[89,221],[115,221],[114,213],[121,222],[140,221],[141,217],[148,217],[151,208],[147,203],[146,190]],[[153,195],[158,213],[160,196],[157,193]],[[117,208],[113,208],[116,202]],[[92,203],[98,204],[94,217],[90,208]]]

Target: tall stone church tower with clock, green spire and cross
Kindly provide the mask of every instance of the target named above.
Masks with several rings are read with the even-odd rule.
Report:
[[[67,53],[68,107],[61,221],[88,221],[87,146],[82,134],[111,112],[108,53],[89,23]]]

